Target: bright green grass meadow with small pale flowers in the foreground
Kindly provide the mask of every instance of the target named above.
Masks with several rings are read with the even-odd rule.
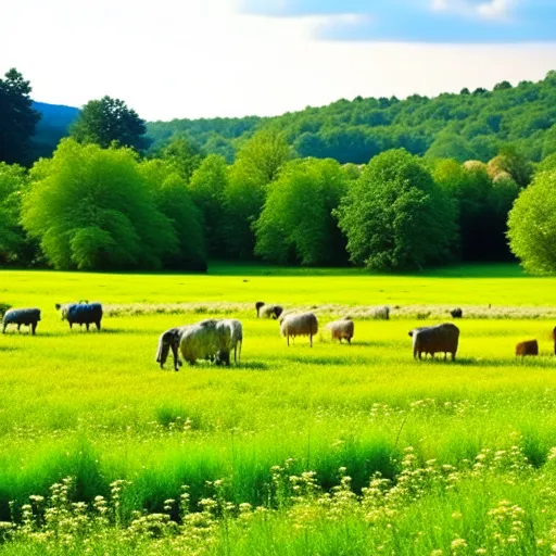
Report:
[[[11,540],[0,554],[556,552],[554,278],[514,266],[392,277],[217,265],[0,280],[0,302],[42,309],[36,337],[0,337],[0,519],[13,501],[23,522],[0,523]],[[70,331],[54,311],[81,299],[104,303],[101,333]],[[288,349],[276,321],[255,318],[257,300],[315,307],[321,329],[361,315],[353,344],[323,330],[313,349]],[[396,307],[389,321],[358,312],[384,303]],[[480,317],[457,323],[458,361],[414,362],[408,330],[454,306]],[[207,315],[242,320],[241,364],[161,370],[159,334]],[[541,355],[516,358],[532,338]],[[391,482],[369,489],[377,472]],[[29,495],[65,477],[89,517],[58,496],[41,504],[65,521],[33,504],[26,518]],[[118,479],[130,484],[104,522],[94,496],[109,500]],[[178,517],[165,501],[184,484],[192,513],[156,517]],[[142,509],[149,527],[132,514]]]

